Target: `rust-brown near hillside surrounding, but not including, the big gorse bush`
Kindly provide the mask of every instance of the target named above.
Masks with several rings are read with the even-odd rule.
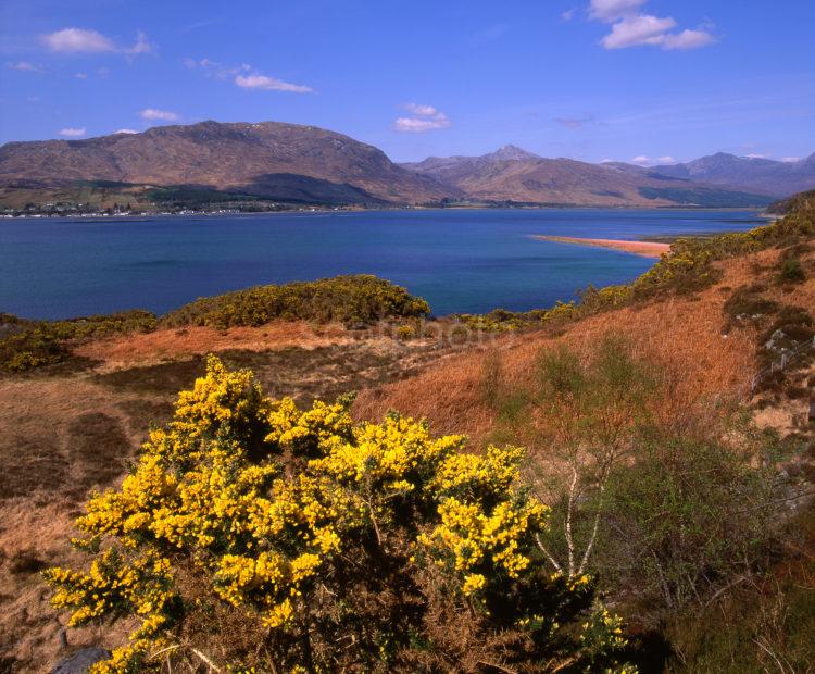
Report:
[[[629,626],[626,636],[632,657],[635,649],[652,649],[647,660],[651,664],[642,664],[640,671],[763,671],[773,662],[765,649],[791,663],[785,671],[805,671],[799,667],[815,657],[810,638],[815,612],[808,589],[815,575],[815,536],[812,506],[794,495],[799,488],[812,491],[815,480],[806,416],[807,383],[815,377],[815,366],[811,358],[801,358],[761,379],[757,387],[752,384],[762,367],[777,362],[795,342],[813,337],[812,208],[812,198],[802,196],[781,223],[748,234],[678,241],[669,255],[634,284],[587,292],[582,304],[524,316],[497,312],[492,319],[499,327],[501,322],[510,323],[507,317],[517,319],[512,324],[516,329],[503,332],[491,332],[489,320],[480,321],[484,329],[467,317],[424,322],[426,309],[421,301],[371,277],[228,294],[193,302],[159,323],[134,312],[99,316],[73,327],[68,322],[53,324],[57,338],[64,340],[66,359],[24,374],[0,373],[4,467],[0,512],[8,523],[0,531],[0,581],[5,588],[0,662],[11,672],[49,671],[77,648],[125,642],[127,621],[95,621],[63,631],[66,615],[49,606],[39,572],[53,564],[86,563],[84,553],[68,544],[76,534],[72,520],[80,503],[93,489],[121,485],[149,428],[170,421],[176,392],[193,386],[204,374],[205,354],[215,352],[229,367],[251,367],[273,397],[291,395],[300,405],[355,390],[359,396],[351,412],[359,422],[378,422],[398,409],[427,419],[435,435],[466,434],[477,452],[490,444],[527,447],[524,479],[537,476],[532,488],[553,504],[552,532],[562,516],[557,503],[566,500],[552,491],[560,484],[556,470],[568,465],[568,457],[562,451],[563,436],[551,440],[547,435],[547,415],[554,417],[559,434],[574,422],[580,434],[597,428],[604,433],[611,424],[614,436],[625,437],[632,421],[647,420],[648,433],[627,446],[631,453],[625,455],[625,470],[616,475],[617,482],[609,483],[609,514],[622,540],[603,538],[592,558],[592,572],[600,569],[600,587],[609,606]],[[363,301],[364,297],[375,302]],[[366,319],[362,327],[355,325],[360,310]],[[32,327],[10,316],[2,316],[2,322],[12,337]],[[47,333],[40,330],[39,337]],[[620,351],[614,345],[626,346]],[[617,388],[613,395],[601,388],[597,399],[581,401],[600,404],[594,410],[602,422],[599,426],[582,409],[568,404],[550,409],[556,400],[547,397],[547,389],[532,388],[552,369],[555,375],[567,375],[555,377],[559,386],[579,383],[586,373],[590,383],[607,387],[609,382],[590,370],[606,361],[611,385]],[[630,396],[638,387],[648,394],[644,402]],[[244,390],[246,386],[240,388]],[[640,409],[640,403],[645,407]],[[322,429],[319,409],[309,414]],[[754,427],[730,425],[735,419],[752,420]],[[585,442],[588,436],[579,437]],[[660,439],[657,449],[664,446],[668,454],[667,460],[657,454],[657,461],[649,464],[647,451],[654,437]],[[750,438],[762,453],[751,453]],[[738,452],[731,446],[737,441]],[[762,465],[778,462],[778,471],[754,472],[758,455]],[[584,457],[589,471],[590,455]],[[693,457],[702,463],[693,463]],[[720,457],[732,463],[710,463]],[[647,469],[656,473],[643,473]],[[468,475],[465,464],[461,471]],[[543,484],[543,477],[552,482]],[[672,477],[678,477],[678,485]],[[593,478],[587,472],[581,504],[591,506]],[[766,503],[753,500],[764,498],[755,490],[764,484],[787,489],[780,496],[774,490],[769,496],[778,500],[769,506],[781,524],[789,523],[789,531],[778,520],[770,527],[756,514],[765,512]],[[652,491],[649,486],[654,486]],[[632,512],[625,511],[627,502],[635,504]],[[676,509],[681,516],[672,520]],[[727,519],[730,512],[755,517],[735,521]],[[644,524],[637,522],[638,513]],[[687,519],[695,516],[704,519],[686,526]],[[381,525],[391,522],[383,519]],[[637,528],[651,522],[657,522],[659,531]],[[585,516],[576,519],[578,533],[586,532],[586,523]],[[753,535],[748,525],[758,526],[758,548],[741,547],[743,539],[738,536]],[[799,525],[804,528],[795,528]],[[376,537],[371,540],[374,545]],[[659,574],[649,565],[651,551],[672,573],[681,571],[665,590],[667,603]],[[557,553],[563,547],[554,549]],[[715,574],[709,577],[710,569]],[[430,567],[428,573],[435,578],[439,571]],[[443,590],[430,599],[460,597],[449,586]],[[356,598],[371,599],[371,606],[378,607],[379,599],[393,597],[377,591]],[[256,641],[235,636],[259,635],[247,632],[255,628],[254,619],[240,622],[214,595],[209,597],[206,611],[193,609],[187,614],[184,647],[191,644],[218,664],[237,657],[236,652],[254,657]],[[728,617],[725,622],[722,611]],[[444,620],[446,613],[427,615]],[[432,633],[434,640],[413,639],[403,648],[423,659],[455,653],[450,660],[455,671],[474,674],[494,671],[484,662],[502,663],[499,671],[541,671],[513,664],[521,646],[507,641],[506,632],[501,639],[487,641],[484,633],[471,629],[477,615],[477,606],[453,613]],[[387,621],[392,620],[387,614]],[[703,629],[705,624],[712,628]],[[60,634],[66,635],[67,647],[61,645]],[[353,654],[353,648],[342,652]],[[364,656],[376,657],[371,651]],[[662,664],[654,665],[654,658]],[[663,666],[668,659],[673,664]],[[387,671],[450,670],[439,661],[417,662],[402,666],[391,662]],[[173,665],[174,671],[185,671],[184,661]]]

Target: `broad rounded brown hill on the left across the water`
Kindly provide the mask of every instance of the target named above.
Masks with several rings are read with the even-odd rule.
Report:
[[[0,148],[1,187],[89,182],[199,186],[314,203],[422,203],[455,194],[348,136],[279,122],[201,122]]]

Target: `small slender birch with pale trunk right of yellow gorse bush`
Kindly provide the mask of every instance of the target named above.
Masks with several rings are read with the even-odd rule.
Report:
[[[488,360],[485,395],[500,433],[534,448],[530,482],[553,501],[539,548],[553,571],[578,578],[594,551],[609,477],[650,424],[660,373],[609,337],[587,359],[566,347],[541,349],[531,378],[514,389],[502,389],[500,378],[500,363]]]

